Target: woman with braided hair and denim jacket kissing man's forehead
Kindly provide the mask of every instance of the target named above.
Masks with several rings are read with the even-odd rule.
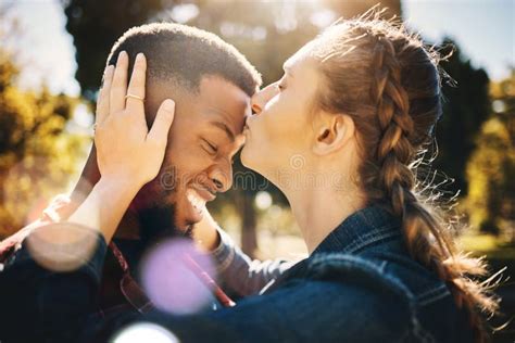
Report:
[[[90,321],[83,340],[106,340],[141,320],[183,342],[487,339],[478,308],[494,313],[498,303],[469,278],[483,274],[483,266],[456,253],[447,224],[416,191],[419,153],[441,114],[436,54],[378,16],[331,26],[252,99],[255,115],[248,119],[241,160],[286,194],[310,256],[287,270],[266,265],[272,277],[261,268],[259,282],[244,292],[246,282],[233,284],[246,295],[267,283],[235,307],[180,317],[115,314]],[[70,218],[100,228],[108,242],[130,196],[156,174],[173,116],[164,110],[158,115],[166,125],[154,125],[150,137],[160,138],[149,141],[142,104],[128,97],[124,105],[125,94],[145,94],[145,59],[136,62],[128,90],[121,75],[108,68],[100,97],[101,182]],[[121,137],[131,144],[111,151]],[[138,158],[150,151],[154,158],[141,170]],[[101,208],[93,223],[99,199],[111,199],[115,211]],[[212,230],[208,225],[198,232],[210,237],[203,242],[209,247],[217,245]],[[246,264],[242,255],[222,255],[226,265]]]

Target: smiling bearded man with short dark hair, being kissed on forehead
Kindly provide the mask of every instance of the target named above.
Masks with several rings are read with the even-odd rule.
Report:
[[[255,68],[234,47],[184,25],[129,29],[113,46],[108,64],[115,64],[122,51],[129,56],[129,75],[136,54],[147,56],[145,109],[149,126],[165,99],[175,100],[176,115],[161,170],[134,199],[115,233],[112,252],[106,254],[101,310],[120,305],[142,310],[145,294],[133,282],[142,254],[160,237],[190,233],[191,226],[201,220],[205,203],[230,188],[231,158],[243,143],[241,131],[250,114],[250,97],[261,84]],[[72,201],[61,198],[46,212],[46,218],[3,241],[0,263],[33,228],[65,219],[73,212],[100,178],[96,160],[93,147]],[[125,262],[128,270],[123,270]],[[127,295],[121,290],[124,282],[136,291]]]

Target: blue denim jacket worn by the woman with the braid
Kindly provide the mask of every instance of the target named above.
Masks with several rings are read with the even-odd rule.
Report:
[[[99,242],[93,263],[81,268],[86,271],[75,272],[80,278],[73,281],[81,280],[83,288],[99,284],[101,266],[97,262],[105,254],[105,243]],[[234,258],[221,258],[222,262],[230,265],[244,258],[236,250],[230,251],[226,253],[234,253]],[[15,264],[9,268],[16,270]],[[256,284],[266,283],[260,294],[246,296],[231,308],[188,316],[154,310],[147,315],[124,312],[102,319],[88,318],[86,304],[95,302],[88,296],[96,290],[84,290],[83,302],[73,303],[74,308],[68,309],[68,318],[76,318],[83,326],[73,327],[72,333],[55,331],[53,336],[108,341],[127,325],[150,321],[172,331],[180,342],[473,341],[467,316],[456,307],[447,285],[409,256],[400,223],[379,206],[349,216],[307,258],[293,266],[278,263],[260,270]],[[88,278],[91,281],[85,283]],[[80,290],[78,284],[68,287],[71,292]],[[254,293],[254,288],[249,287],[248,292]],[[63,287],[59,290],[63,292]],[[81,315],[77,306],[85,307]],[[65,304],[59,308],[63,317]]]

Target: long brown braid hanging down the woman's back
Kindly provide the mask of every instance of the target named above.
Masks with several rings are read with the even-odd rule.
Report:
[[[405,242],[412,257],[432,268],[450,285],[457,306],[465,307],[469,313],[477,341],[483,342],[487,335],[476,303],[482,303],[486,308],[495,305],[492,300],[482,298],[483,294],[477,291],[476,283],[462,274],[463,266],[460,268],[460,265],[467,263],[463,261],[465,257],[454,256],[452,240],[442,232],[438,221],[413,192],[416,180],[410,164],[416,149],[410,142],[414,123],[410,115],[409,96],[401,84],[401,67],[393,42],[381,35],[373,39],[376,42],[372,56],[374,78],[370,97],[377,106],[381,130],[376,151],[380,166],[377,187],[384,190],[385,196],[390,199],[393,213],[402,219]],[[476,269],[478,274],[485,272],[482,268]]]

